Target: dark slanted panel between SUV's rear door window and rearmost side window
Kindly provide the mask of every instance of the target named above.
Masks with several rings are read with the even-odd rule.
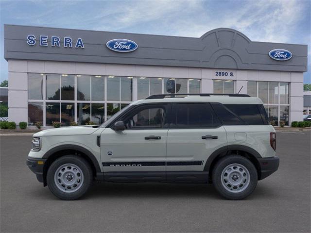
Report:
[[[235,114],[229,111],[229,109],[225,108],[223,104],[220,103],[212,103],[212,106],[221,120],[223,125],[244,125],[245,123],[239,119]]]

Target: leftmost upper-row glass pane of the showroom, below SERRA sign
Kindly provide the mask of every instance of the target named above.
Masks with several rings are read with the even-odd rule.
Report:
[[[28,74],[28,100],[43,100],[44,74]]]

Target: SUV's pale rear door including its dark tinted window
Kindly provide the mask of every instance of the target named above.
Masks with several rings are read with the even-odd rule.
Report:
[[[204,171],[209,155],[226,146],[225,129],[210,104],[205,102],[174,103],[171,116],[166,153],[167,180],[198,179],[200,175],[195,174]]]

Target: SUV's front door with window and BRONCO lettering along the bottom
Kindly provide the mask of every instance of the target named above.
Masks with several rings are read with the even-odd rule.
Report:
[[[105,179],[119,177],[130,181],[133,176],[148,179],[152,172],[162,172],[154,179],[165,180],[168,127],[165,128],[164,122],[168,105],[139,105],[118,119],[124,122],[124,131],[106,128],[102,132],[101,160]]]

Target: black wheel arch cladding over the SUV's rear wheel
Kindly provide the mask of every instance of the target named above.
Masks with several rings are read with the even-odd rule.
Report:
[[[207,159],[204,170],[208,171],[208,180],[211,182],[212,170],[215,164],[225,155],[236,154],[249,159],[256,167],[258,179],[260,180],[261,168],[257,158],[262,158],[260,154],[247,146],[242,145],[229,145],[215,150]]]

